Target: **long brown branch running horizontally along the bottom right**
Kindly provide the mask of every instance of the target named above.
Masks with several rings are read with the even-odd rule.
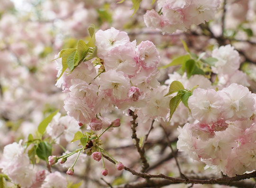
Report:
[[[103,157],[109,160],[110,162],[115,162],[110,159],[110,157],[103,154]],[[191,178],[174,178],[170,176],[166,176],[165,174],[148,174],[145,172],[137,172],[133,169],[130,169],[128,167],[124,167],[126,171],[131,172],[133,175],[144,178],[144,179],[150,179],[150,178],[161,178],[161,179],[168,179],[171,182],[170,183],[193,183],[193,184],[221,184],[221,185],[230,185],[233,181],[239,181],[242,179],[249,179],[249,178],[255,178],[256,177],[256,171],[251,173],[245,173],[243,175],[237,175],[234,177],[222,177],[222,178],[210,178],[210,179],[191,179]]]

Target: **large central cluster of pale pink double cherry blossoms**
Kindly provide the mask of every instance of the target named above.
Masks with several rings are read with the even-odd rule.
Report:
[[[64,109],[88,128],[106,129],[115,121],[101,115],[116,106],[122,111],[137,109],[143,120],[163,118],[169,111],[166,86],[159,86],[160,56],[150,41],[130,42],[126,32],[111,27],[95,34],[96,60],[82,62],[71,74],[64,73],[56,85],[67,93]],[[61,60],[56,60],[58,77]]]

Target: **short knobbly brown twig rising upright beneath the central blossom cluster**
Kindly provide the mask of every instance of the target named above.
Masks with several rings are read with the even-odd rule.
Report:
[[[145,157],[145,149],[144,148],[141,148],[139,146],[139,138],[137,137],[137,134],[136,134],[136,127],[138,126],[138,124],[136,123],[136,119],[137,119],[137,115],[134,113],[134,111],[131,111],[129,112],[129,115],[132,116],[132,120],[131,120],[131,129],[132,129],[132,138],[135,140],[135,146],[137,147],[137,151],[139,153],[139,156],[140,156],[140,160],[142,162],[142,169],[141,171],[144,172],[146,171],[146,169],[149,167],[149,164],[146,160],[146,157]]]

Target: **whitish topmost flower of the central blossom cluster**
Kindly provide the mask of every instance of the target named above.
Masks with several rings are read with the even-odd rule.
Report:
[[[117,46],[127,45],[129,37],[126,32],[119,31],[114,27],[105,31],[99,30],[95,34],[96,42],[95,45],[98,47],[98,56],[102,59],[106,57],[108,52]]]

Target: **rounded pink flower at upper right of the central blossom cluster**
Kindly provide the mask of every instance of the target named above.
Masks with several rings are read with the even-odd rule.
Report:
[[[145,69],[157,67],[160,56],[154,43],[143,41],[137,46],[137,62]]]

